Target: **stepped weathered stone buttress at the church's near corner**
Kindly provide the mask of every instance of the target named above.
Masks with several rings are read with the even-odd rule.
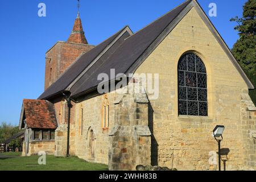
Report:
[[[124,94],[115,102],[115,126],[109,134],[109,169],[135,170],[151,163],[146,94]]]

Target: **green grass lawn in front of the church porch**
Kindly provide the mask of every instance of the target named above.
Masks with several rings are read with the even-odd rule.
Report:
[[[20,152],[0,154],[0,171],[106,171],[105,164],[88,163],[76,156],[60,158],[53,155],[46,156],[46,165],[39,165],[39,156],[22,157]],[[1,158],[1,155],[10,158]]]

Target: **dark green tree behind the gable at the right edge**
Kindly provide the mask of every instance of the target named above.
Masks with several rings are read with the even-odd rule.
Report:
[[[236,16],[230,19],[230,21],[238,23],[234,29],[239,32],[240,36],[234,44],[232,52],[254,86],[256,86],[255,13],[256,0],[248,0],[243,6],[243,17]],[[256,105],[256,90],[250,90],[249,94]]]

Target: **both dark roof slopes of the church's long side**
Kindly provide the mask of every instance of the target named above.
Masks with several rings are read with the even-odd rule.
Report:
[[[191,0],[182,3],[174,10],[157,19],[155,22],[149,24],[141,31],[138,31],[136,34],[125,36],[122,38],[121,42],[119,41],[119,43],[115,43],[112,46],[115,49],[106,52],[104,54],[106,56],[102,56],[104,59],[96,61],[96,63],[93,64],[92,67],[90,67],[88,71],[84,73],[84,75],[82,75],[81,78],[76,81],[76,83],[69,89],[71,96],[83,93],[85,90],[95,87],[99,82],[101,82],[97,80],[99,73],[107,73],[109,75],[110,69],[115,69],[116,74],[126,73],[127,69],[134,63],[134,61],[136,61],[138,57],[141,56],[145,49],[147,49],[148,46],[154,42],[154,40],[159,36],[164,28],[166,28],[168,24],[170,24],[172,20],[176,18],[176,16],[184,9],[185,6],[188,5],[189,2],[191,2]],[[105,42],[108,42],[108,44],[105,44],[105,42],[102,44],[105,44],[105,47],[108,46],[114,40],[114,38],[120,34],[121,31],[107,39]],[[117,44],[118,46],[116,46]],[[69,84],[71,84],[71,82],[82,73],[82,70],[88,67],[89,63],[94,59],[94,57],[96,57],[91,56],[94,55],[94,50],[100,50],[96,52],[97,55],[101,53],[102,48],[100,47],[102,47],[101,44],[81,56],[75,64],[67,69],[67,73],[64,73],[63,76],[59,78],[59,80],[54,82],[39,97],[39,99],[49,99],[52,96],[57,96],[61,90],[62,92],[66,90]],[[71,75],[71,73],[73,74]]]

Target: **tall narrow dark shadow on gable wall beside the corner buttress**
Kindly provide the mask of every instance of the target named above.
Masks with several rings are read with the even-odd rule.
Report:
[[[148,102],[148,127],[151,132],[151,165],[158,166],[158,142],[154,136],[154,110],[150,102]]]

